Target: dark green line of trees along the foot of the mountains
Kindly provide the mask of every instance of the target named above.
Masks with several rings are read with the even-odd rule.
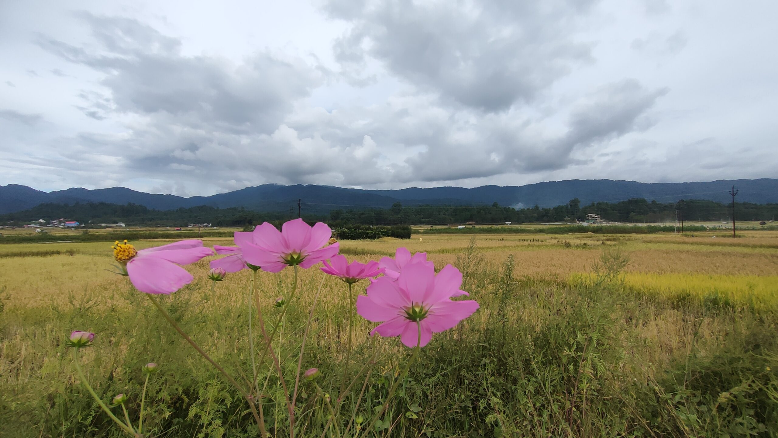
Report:
[[[296,213],[296,212],[295,212]],[[516,209],[492,205],[419,205],[403,206],[394,203],[391,208],[368,208],[361,210],[331,210],[329,214],[307,214],[306,221],[327,221],[333,228],[354,224],[400,225],[400,224],[501,224],[504,222],[573,222],[583,221],[587,214],[598,214],[606,221],[614,222],[674,222],[676,214],[685,221],[728,221],[731,218],[731,204],[707,200],[684,200],[677,203],[657,203],[644,199],[632,199],[617,203],[591,203],[581,206],[573,199],[564,205],[552,208]],[[735,217],[738,221],[770,221],[778,215],[778,204],[736,203]],[[0,223],[20,226],[31,221],[50,221],[66,218],[87,226],[124,222],[128,225],[144,226],[186,226],[187,224],[212,224],[219,227],[251,227],[264,221],[280,223],[296,217],[286,212],[258,212],[242,207],[191,207],[177,210],[152,210],[142,205],[128,203],[44,203],[30,210],[0,216]]]

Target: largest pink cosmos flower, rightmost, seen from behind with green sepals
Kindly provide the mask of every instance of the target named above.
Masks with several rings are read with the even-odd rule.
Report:
[[[471,316],[478,303],[473,300],[451,301],[462,284],[457,268],[446,265],[435,275],[428,263],[408,263],[397,281],[380,277],[367,287],[367,295],[356,298],[356,313],[373,322],[380,322],[370,334],[384,337],[400,336],[408,347],[425,346],[433,337],[455,327]]]

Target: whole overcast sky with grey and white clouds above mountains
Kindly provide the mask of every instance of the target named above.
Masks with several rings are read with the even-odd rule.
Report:
[[[778,177],[778,2],[0,2],[0,184]]]

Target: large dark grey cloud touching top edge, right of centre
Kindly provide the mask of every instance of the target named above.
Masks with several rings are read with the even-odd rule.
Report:
[[[374,58],[443,100],[500,111],[592,61],[591,44],[573,38],[591,3],[355,0],[326,10],[352,23],[335,43],[347,75]]]

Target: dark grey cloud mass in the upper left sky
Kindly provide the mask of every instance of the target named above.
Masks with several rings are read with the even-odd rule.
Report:
[[[114,111],[170,114],[187,125],[244,132],[272,132],[292,108],[320,83],[320,74],[296,59],[265,53],[241,65],[207,56],[184,56],[180,41],[135,19],[79,14],[102,51],[40,35],[41,48],[106,76]],[[79,108],[82,109],[82,108]],[[105,108],[89,108],[104,117]],[[83,110],[83,109],[82,109]]]

